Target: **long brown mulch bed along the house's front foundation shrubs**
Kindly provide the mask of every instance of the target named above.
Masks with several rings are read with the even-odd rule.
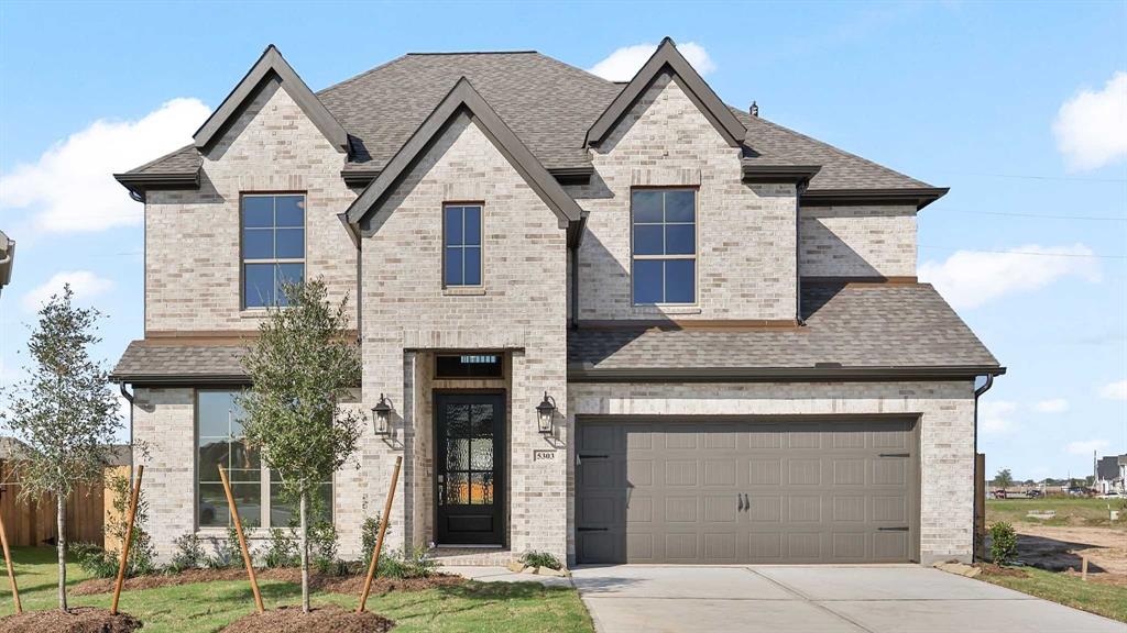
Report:
[[[301,570],[296,568],[261,569],[255,570],[259,581],[279,580],[283,582],[301,583]],[[125,579],[125,591],[139,589],[157,589],[159,587],[177,587],[180,585],[192,585],[194,582],[214,582],[220,580],[247,580],[247,570],[237,569],[188,569],[179,573],[139,576]],[[435,587],[449,587],[461,585],[464,578],[459,576],[435,574],[429,578],[376,578],[372,581],[372,595],[381,596],[390,591],[423,591]],[[323,590],[332,594],[356,594],[360,595],[364,586],[363,576],[321,576],[311,573],[309,586],[313,590]],[[91,578],[83,580],[71,588],[76,596],[92,596],[95,594],[108,594],[114,590],[113,578]]]

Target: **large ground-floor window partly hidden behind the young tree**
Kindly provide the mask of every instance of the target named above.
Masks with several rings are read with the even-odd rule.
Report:
[[[231,525],[219,466],[227,470],[231,496],[247,527],[296,525],[298,505],[282,490],[277,471],[263,464],[242,436],[242,408],[238,391],[196,391],[196,525],[201,528]],[[332,482],[320,485],[311,509],[316,518],[332,520]]]

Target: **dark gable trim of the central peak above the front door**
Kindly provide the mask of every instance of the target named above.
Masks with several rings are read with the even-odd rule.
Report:
[[[556,178],[532,155],[464,77],[454,83],[446,97],[388,162],[387,168],[380,171],[375,180],[348,207],[346,212],[348,223],[360,224],[375,212],[379,204],[442,135],[447,124],[462,112],[468,113],[471,119],[479,124],[486,136],[508,159],[544,204],[556,213],[560,222],[567,223],[570,238],[582,215],[579,205],[564,191]]]

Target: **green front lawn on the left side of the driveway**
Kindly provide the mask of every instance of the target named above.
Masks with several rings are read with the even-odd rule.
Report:
[[[57,605],[54,550],[16,547],[16,574],[25,610]],[[66,565],[69,585],[87,576],[76,564]],[[7,577],[0,573],[0,616],[15,613]],[[266,607],[295,605],[301,599],[298,585],[276,581],[259,583]],[[109,607],[112,596],[70,596],[74,606]],[[357,596],[314,594],[317,604],[354,608]],[[184,585],[122,594],[121,607],[144,623],[147,633],[219,631],[254,610],[246,581]],[[496,631],[533,633],[549,631],[594,631],[587,609],[570,588],[543,587],[538,582],[482,583],[443,587],[418,592],[392,592],[369,600],[369,608],[398,623],[397,633]]]

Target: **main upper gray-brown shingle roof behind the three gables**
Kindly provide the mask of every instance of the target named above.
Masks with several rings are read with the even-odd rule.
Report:
[[[582,168],[587,130],[623,84],[535,52],[408,54],[317,96],[352,137],[346,171],[378,171],[465,77],[547,169]],[[820,164],[809,190],[929,187],[766,119],[731,108],[761,164]],[[181,148],[133,173],[194,172],[202,160]]]

